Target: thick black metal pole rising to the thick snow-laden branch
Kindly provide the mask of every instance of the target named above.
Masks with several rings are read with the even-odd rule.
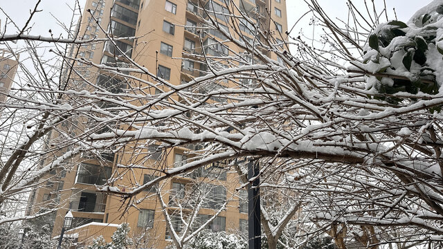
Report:
[[[248,249],[262,247],[262,230],[260,225],[260,167],[252,160],[248,163],[248,179],[255,180],[248,185]]]

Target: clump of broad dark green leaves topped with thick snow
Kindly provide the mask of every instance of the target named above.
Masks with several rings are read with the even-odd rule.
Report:
[[[388,21],[368,38],[363,64],[370,74],[366,89],[386,93],[376,98],[397,103],[392,94],[419,92],[435,95],[443,82],[443,5],[434,1],[419,10],[408,24]]]

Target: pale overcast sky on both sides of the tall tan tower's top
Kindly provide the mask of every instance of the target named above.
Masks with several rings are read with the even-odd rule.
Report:
[[[80,0],[80,6],[84,6],[86,0]],[[160,1],[160,0],[156,0]],[[186,0],[176,0],[176,1],[186,1]],[[273,0],[271,0],[273,1]],[[284,0],[283,0],[284,1]],[[17,3],[18,2],[18,3]],[[22,27],[26,23],[26,20],[29,17],[29,12],[34,8],[37,0],[0,0],[0,8],[3,9],[15,23]],[[318,0],[318,2],[323,6],[325,12],[327,12],[332,17],[338,17],[341,19],[347,19],[347,8],[346,8],[346,0]],[[361,10],[365,10],[363,8],[363,0],[354,0],[353,3],[356,6],[359,6]],[[367,1],[370,3],[371,1]],[[383,0],[375,0],[377,6],[382,8]],[[399,20],[408,21],[411,15],[422,8],[426,4],[430,3],[431,0],[386,0],[386,4],[388,5],[388,15],[391,19],[394,19],[392,8],[395,7],[397,12],[397,17]],[[302,0],[286,0],[287,3],[287,13],[288,13],[288,24],[289,28],[295,23],[297,19],[299,19],[303,13],[306,12],[307,7]],[[33,34],[35,35],[48,35],[48,30],[53,30],[55,35],[60,35],[63,32],[60,22],[64,24],[69,24],[71,21],[72,8],[75,4],[75,0],[42,0],[40,3],[39,10],[42,12],[38,12],[33,19]],[[306,27],[305,24],[309,22],[310,15],[307,15],[300,21],[300,24],[294,28],[293,32],[298,33],[300,28]],[[1,30],[3,31],[3,27],[5,24],[6,16],[3,13],[0,13],[1,19]],[[384,19],[383,19],[384,20]],[[13,26],[8,25],[8,29],[6,33],[16,33],[17,29],[13,28]],[[296,34],[293,34],[296,35]]]

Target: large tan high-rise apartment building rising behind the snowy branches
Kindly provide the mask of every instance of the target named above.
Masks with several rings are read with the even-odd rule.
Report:
[[[221,15],[228,13],[224,6],[231,1],[249,17],[260,17],[263,30],[282,34],[275,37],[286,39],[283,38],[287,37],[284,35],[284,31],[287,30],[285,0],[87,0],[84,10],[87,10],[89,15],[84,15],[79,25],[83,39],[108,36],[134,38],[116,40],[118,48],[111,42],[81,46],[71,50],[71,57],[82,57],[95,64],[125,66],[128,60],[121,56],[125,53],[127,57],[134,59],[134,62],[171,84],[189,82],[193,77],[204,75],[206,71],[206,64],[192,59],[192,54],[201,54],[202,50],[206,55],[213,56],[228,55],[229,50],[242,53],[230,42],[217,42],[226,38],[222,33],[204,28],[209,13],[211,17],[217,18],[221,28],[235,34],[230,19]],[[254,39],[253,27],[247,21],[240,20],[238,27],[243,36],[237,35],[236,39]],[[263,38],[258,36],[255,39]],[[275,40],[282,42],[282,39]],[[267,50],[263,49],[262,53],[278,59]],[[122,89],[130,87],[130,82],[122,82],[118,76],[103,73],[82,60],[78,60],[75,66],[86,79],[96,82],[108,91],[120,93]],[[78,89],[88,88],[81,80],[73,80],[70,84]],[[152,93],[146,94],[154,94],[154,90],[147,91]],[[204,93],[210,89],[200,91]],[[66,125],[63,129],[69,130],[71,127]],[[54,136],[53,134],[51,139],[55,139]],[[145,248],[165,248],[171,243],[170,232],[166,228],[163,216],[165,208],[162,207],[160,197],[154,189],[140,194],[135,208],[125,206],[126,203],[122,203],[119,196],[107,196],[98,192],[96,187],[105,184],[111,172],[127,170],[117,169],[116,165],[134,165],[135,160],[141,160],[145,164],[173,167],[192,157],[190,147],[176,147],[159,153],[161,151],[157,151],[156,146],[152,145],[147,150],[152,153],[146,160],[114,154],[113,151],[100,155],[82,154],[80,158],[71,160],[74,166],[70,171],[57,172],[58,174],[54,172],[48,176],[50,180],[45,186],[31,194],[30,203],[34,205],[30,205],[28,212],[41,212],[42,207],[60,207],[50,218],[54,219],[53,235],[57,236],[60,234],[64,215],[71,210],[74,216],[73,228],[66,233],[75,234],[83,244],[90,243],[91,239],[99,235],[109,240],[116,230],[116,224],[129,223],[134,237],[141,237],[145,241]],[[191,205],[186,204],[186,201],[192,201],[194,197],[191,195],[195,196],[196,192],[201,193],[205,199],[197,216],[198,223],[204,223],[221,209],[217,217],[210,222],[210,229],[226,232],[247,230],[246,191],[237,194],[235,188],[240,185],[239,178],[237,174],[226,172],[224,164],[226,162],[213,163],[192,174],[174,177],[158,186],[161,187],[161,198],[168,206],[166,212],[170,214],[176,231],[180,231],[182,225],[178,216],[178,206],[181,205],[185,213],[190,213],[188,208]],[[138,186],[156,175],[156,172],[142,167],[131,170],[132,177],[125,176],[118,181]],[[118,183],[115,185],[118,186]],[[227,203],[226,207],[223,206],[224,203]],[[183,215],[183,212],[180,215]]]

